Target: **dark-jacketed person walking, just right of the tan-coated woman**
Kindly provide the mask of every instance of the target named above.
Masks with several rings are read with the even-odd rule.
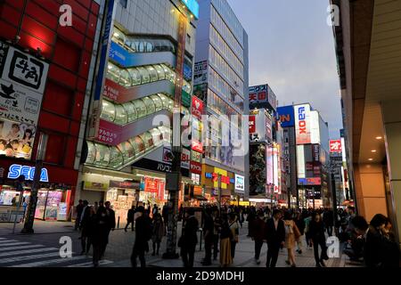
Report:
[[[323,260],[329,259],[327,256],[326,239],[324,235],[324,224],[322,216],[315,213],[309,224],[309,235],[314,247],[316,267],[326,267]],[[319,257],[319,246],[321,248],[321,255]]]

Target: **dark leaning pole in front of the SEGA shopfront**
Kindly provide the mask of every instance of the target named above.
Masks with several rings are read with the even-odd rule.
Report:
[[[32,190],[30,191],[30,200],[28,207],[28,214],[25,220],[24,228],[22,233],[34,233],[33,224],[35,220],[35,210],[37,209],[37,192],[40,188],[40,175],[42,173],[43,160],[45,159],[45,152],[47,147],[48,135],[40,133],[39,142],[37,144],[37,161],[35,164],[35,175],[32,184]]]

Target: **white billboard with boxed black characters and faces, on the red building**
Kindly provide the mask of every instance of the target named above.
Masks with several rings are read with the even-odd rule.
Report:
[[[0,41],[0,154],[30,159],[48,69]]]

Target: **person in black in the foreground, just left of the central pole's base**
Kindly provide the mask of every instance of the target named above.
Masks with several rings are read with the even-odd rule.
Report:
[[[143,206],[138,207],[136,212],[140,216],[135,220],[135,244],[132,249],[131,265],[136,267],[136,257],[139,256],[141,267],[145,267],[144,253],[149,249],[148,241],[151,240],[151,219],[144,215]]]

